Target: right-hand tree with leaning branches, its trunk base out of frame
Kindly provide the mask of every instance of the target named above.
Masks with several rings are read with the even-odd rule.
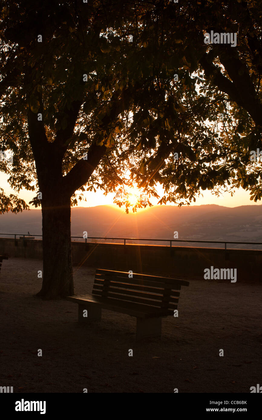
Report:
[[[190,202],[199,187],[217,193],[220,187],[233,191],[241,186],[251,192],[254,201],[261,199],[261,159],[255,163],[250,159],[251,151],[254,153],[259,147],[261,150],[262,146],[261,2],[189,1],[180,8],[172,7],[169,2],[159,2],[157,16],[156,24],[162,29],[165,45],[174,51],[177,42],[182,42],[184,67],[191,75],[198,75],[195,82],[205,107],[202,117],[208,118],[209,122],[218,122],[219,115],[223,117],[217,130],[212,134],[211,130],[206,131],[204,142],[197,139],[197,134],[191,136],[188,146],[196,151],[196,159],[188,155],[189,161],[185,165],[183,155],[183,159],[177,161],[175,171],[172,163],[167,162],[159,171],[153,160],[157,179],[164,184],[167,193],[163,202],[181,198]],[[204,34],[211,31],[236,33],[236,47],[206,44]],[[192,143],[193,139],[195,142]],[[205,160],[203,168],[199,165],[199,151],[206,143],[209,143],[206,149],[209,164]]]

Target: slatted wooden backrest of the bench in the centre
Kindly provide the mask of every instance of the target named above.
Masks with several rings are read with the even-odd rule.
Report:
[[[93,295],[118,301],[134,302],[162,309],[170,315],[177,309],[181,286],[189,282],[176,278],[97,269]]]

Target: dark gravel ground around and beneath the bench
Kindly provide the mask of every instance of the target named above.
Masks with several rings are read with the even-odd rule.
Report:
[[[18,393],[249,393],[261,383],[261,283],[187,278],[179,317],[162,320],[161,339],[137,343],[134,317],[102,310],[101,322],[79,325],[77,304],[34,297],[41,269],[41,260],[3,261],[0,386]],[[74,267],[75,294],[91,293],[94,273]]]

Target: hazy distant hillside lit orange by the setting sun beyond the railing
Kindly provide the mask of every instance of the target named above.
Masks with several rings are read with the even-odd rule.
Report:
[[[0,215],[0,232],[42,234],[41,223],[41,210],[5,213]],[[71,234],[82,236],[83,231],[88,236],[153,239],[173,239],[173,232],[178,231],[179,239],[262,242],[262,205],[163,205],[135,214],[107,205],[74,207]]]

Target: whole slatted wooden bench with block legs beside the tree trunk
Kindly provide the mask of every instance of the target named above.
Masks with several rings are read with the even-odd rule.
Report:
[[[135,316],[139,340],[146,336],[161,336],[162,318],[174,315],[179,290],[188,285],[188,281],[175,278],[97,269],[92,295],[66,299],[78,303],[79,323],[101,320],[102,309]]]

